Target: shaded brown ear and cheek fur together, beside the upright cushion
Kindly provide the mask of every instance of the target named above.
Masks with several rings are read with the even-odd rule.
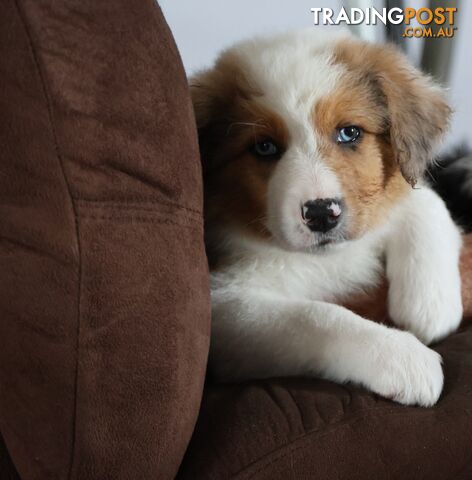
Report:
[[[258,103],[259,92],[236,65],[237,59],[223,57],[215,69],[191,83],[210,256],[215,225],[232,226],[260,238],[269,236],[265,227],[267,185],[277,160],[258,158],[250,149],[258,141],[272,139],[283,151],[289,142],[284,121]]]

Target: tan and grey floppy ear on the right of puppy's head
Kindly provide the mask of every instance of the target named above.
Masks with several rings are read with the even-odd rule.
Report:
[[[451,109],[443,90],[393,46],[349,41],[340,45],[339,56],[348,68],[372,79],[385,96],[395,158],[405,179],[415,185],[449,125]]]

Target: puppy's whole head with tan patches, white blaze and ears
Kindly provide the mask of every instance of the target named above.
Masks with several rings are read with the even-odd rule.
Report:
[[[423,175],[441,90],[393,47],[302,32],[239,44],[191,79],[209,232],[313,250],[362,236]]]

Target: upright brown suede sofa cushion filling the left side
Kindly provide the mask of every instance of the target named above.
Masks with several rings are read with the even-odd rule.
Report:
[[[5,446],[23,480],[173,478],[209,341],[175,45],[153,0],[0,8]]]

